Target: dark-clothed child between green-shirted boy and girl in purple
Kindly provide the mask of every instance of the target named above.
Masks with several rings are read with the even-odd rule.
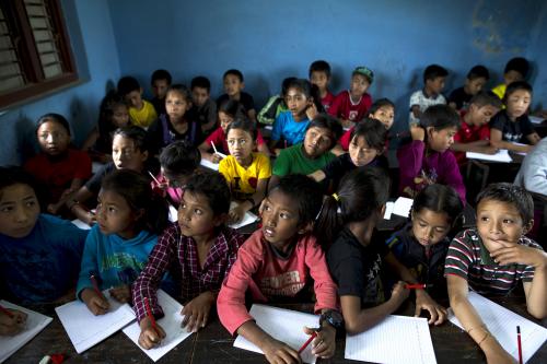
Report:
[[[379,156],[384,153],[387,130],[376,119],[364,119],[351,132],[349,152],[330,161],[324,168],[314,172],[310,177],[316,181],[327,179],[333,190],[338,188],[340,179],[350,171],[362,166],[377,166]],[[387,164],[384,163],[387,167]]]

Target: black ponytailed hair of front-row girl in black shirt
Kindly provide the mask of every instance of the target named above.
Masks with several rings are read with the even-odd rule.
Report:
[[[336,193],[327,196],[318,216],[316,237],[324,248],[351,222],[370,219],[387,202],[389,177],[377,167],[358,167],[340,181]]]

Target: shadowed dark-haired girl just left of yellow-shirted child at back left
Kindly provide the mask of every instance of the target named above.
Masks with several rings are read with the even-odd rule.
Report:
[[[89,152],[94,161],[112,162],[112,139],[114,131],[129,125],[129,110],[119,94],[108,92],[101,103],[98,124],[84,141],[82,151]]]

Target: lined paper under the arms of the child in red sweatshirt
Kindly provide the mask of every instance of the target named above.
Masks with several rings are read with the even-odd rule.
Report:
[[[305,334],[303,331],[303,327],[317,328],[319,326],[319,316],[286,308],[254,304],[253,307],[251,307],[249,314],[255,319],[256,325],[264,331],[296,351],[302,348],[310,338],[310,336]],[[235,339],[234,347],[263,354],[263,351],[257,345],[242,336]],[[314,364],[315,355],[312,354],[312,344],[309,344],[300,356],[303,363]]]

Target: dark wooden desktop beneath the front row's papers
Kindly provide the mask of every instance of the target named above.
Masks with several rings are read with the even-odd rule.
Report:
[[[523,297],[496,298],[496,302],[512,309],[519,315],[531,318],[526,313]],[[312,304],[281,305],[290,309],[312,312]],[[152,361],[130,341],[121,331],[115,333],[105,341],[91,348],[82,354],[77,354],[54,306],[43,305],[31,307],[43,314],[54,317],[54,321],[34,338],[28,344],[20,349],[5,363],[7,364],[36,364],[39,360],[51,353],[65,353],[68,355],[66,363],[98,363],[98,364],[127,364],[127,363],[152,363]],[[414,304],[407,302],[398,315],[414,315]],[[535,322],[547,327],[547,319]],[[431,338],[438,363],[485,363],[480,349],[467,336],[467,333],[451,322],[440,327],[430,327]],[[234,338],[214,318],[203,330],[193,334],[174,350],[170,351],[158,363],[266,363],[264,355],[233,348]],[[357,363],[344,359],[346,336],[339,332],[337,337],[336,355],[329,360],[318,360],[318,363]],[[540,348],[528,363],[547,362],[547,343]]]

